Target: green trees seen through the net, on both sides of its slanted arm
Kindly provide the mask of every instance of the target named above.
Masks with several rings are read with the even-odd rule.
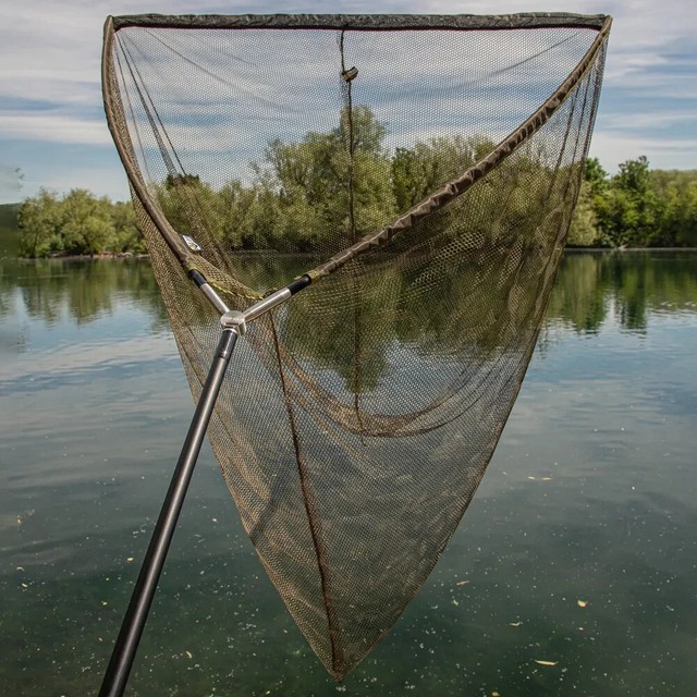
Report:
[[[248,182],[213,188],[194,173],[174,174],[152,191],[173,227],[205,248],[331,254],[379,231],[496,146],[454,135],[392,149],[386,135],[370,109],[357,106],[328,133],[269,143],[250,163]],[[580,167],[558,168],[558,159],[529,140],[480,183],[430,211],[415,235],[418,244],[457,240],[461,248],[505,249],[553,241],[568,224]]]

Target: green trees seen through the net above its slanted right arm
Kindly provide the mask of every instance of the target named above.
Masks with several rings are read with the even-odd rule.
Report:
[[[386,135],[370,109],[356,106],[351,119],[343,110],[328,133],[270,142],[261,161],[250,163],[247,183],[213,188],[185,174],[152,189],[174,229],[204,246],[211,241],[232,249],[338,252],[387,225],[494,146],[453,136],[392,151]]]

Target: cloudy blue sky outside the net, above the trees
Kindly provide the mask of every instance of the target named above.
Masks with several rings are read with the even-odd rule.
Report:
[[[88,188],[129,197],[103,115],[100,53],[108,14],[243,13],[610,14],[613,27],[590,155],[609,172],[648,157],[697,169],[697,3],[688,0],[402,0],[216,3],[203,0],[2,0],[0,204]]]

